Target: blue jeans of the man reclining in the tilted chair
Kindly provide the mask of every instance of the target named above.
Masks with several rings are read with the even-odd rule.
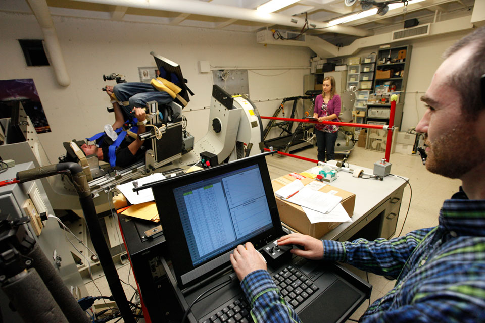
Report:
[[[134,107],[146,107],[147,102],[157,101],[158,105],[163,105],[173,101],[167,92],[158,91],[148,83],[119,83],[114,86],[113,92],[118,100],[129,102],[129,106],[121,107],[125,118],[131,116],[131,110]]]

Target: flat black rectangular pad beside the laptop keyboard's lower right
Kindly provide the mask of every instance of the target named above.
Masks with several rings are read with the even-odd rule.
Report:
[[[305,307],[298,316],[303,323],[338,321],[359,300],[361,294],[337,280],[317,299]]]

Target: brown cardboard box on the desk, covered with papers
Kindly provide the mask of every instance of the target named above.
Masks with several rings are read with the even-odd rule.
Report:
[[[298,176],[302,177],[301,181],[304,185],[307,185],[313,181],[313,179],[311,178],[304,177],[302,175]],[[273,191],[276,192],[283,186],[295,181],[296,179],[297,178],[288,174],[272,180],[271,184],[273,185]],[[329,184],[323,186],[320,191],[324,193],[328,193],[330,191],[332,191],[333,193],[333,191],[336,191],[334,195],[342,197],[341,204],[342,206],[344,206],[344,209],[349,214],[349,217],[352,217],[352,215],[354,214],[355,194],[344,191]],[[320,222],[312,224],[310,223],[310,220],[308,220],[305,212],[300,205],[283,201],[277,197],[275,198],[281,221],[300,233],[308,234],[314,238],[321,238],[323,235],[341,224],[341,222]]]

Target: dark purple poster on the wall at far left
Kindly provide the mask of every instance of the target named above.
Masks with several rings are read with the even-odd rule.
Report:
[[[0,118],[10,118],[12,107],[19,101],[37,133],[51,132],[34,80],[0,80]]]

